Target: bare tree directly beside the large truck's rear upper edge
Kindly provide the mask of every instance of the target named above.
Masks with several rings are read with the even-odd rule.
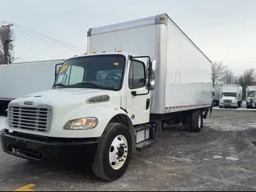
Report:
[[[225,74],[226,66],[223,65],[223,62],[213,62],[211,68],[213,86],[219,86],[222,82],[223,75]]]

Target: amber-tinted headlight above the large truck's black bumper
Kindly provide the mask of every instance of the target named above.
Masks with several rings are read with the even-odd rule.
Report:
[[[78,118],[66,122],[64,130],[90,130],[98,125],[97,118]]]

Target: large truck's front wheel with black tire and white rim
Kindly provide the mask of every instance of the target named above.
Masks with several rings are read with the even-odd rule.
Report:
[[[92,163],[94,174],[108,182],[121,178],[130,164],[131,151],[132,138],[128,127],[110,123],[106,126]]]

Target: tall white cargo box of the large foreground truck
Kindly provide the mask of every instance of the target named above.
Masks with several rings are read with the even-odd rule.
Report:
[[[167,14],[92,28],[87,43],[90,54],[122,50],[157,61],[150,113],[211,106],[211,62]]]

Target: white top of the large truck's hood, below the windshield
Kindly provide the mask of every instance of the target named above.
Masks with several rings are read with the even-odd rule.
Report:
[[[121,105],[121,95],[113,90],[98,90],[98,89],[85,89],[85,88],[61,88],[28,94],[21,98],[17,98],[12,102],[18,102],[19,105],[24,106],[24,102],[30,102],[33,106],[40,104],[50,105],[52,107],[60,106],[83,106],[86,105],[86,100],[89,98],[108,95],[110,100],[115,105]],[[97,103],[97,102],[95,102]],[[73,108],[72,107],[72,108]]]

